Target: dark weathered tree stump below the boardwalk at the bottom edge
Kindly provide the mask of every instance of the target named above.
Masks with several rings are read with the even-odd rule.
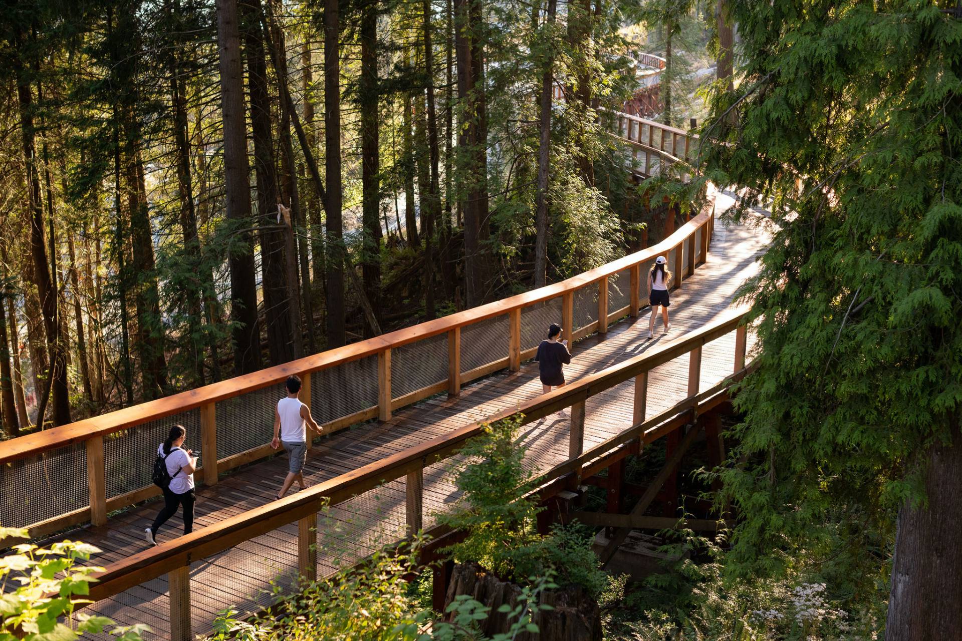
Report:
[[[445,609],[460,595],[468,595],[491,608],[488,618],[478,624],[486,635],[492,636],[507,632],[514,623],[497,608],[502,604],[512,607],[518,604],[521,588],[515,583],[498,579],[476,563],[463,563],[454,566],[444,599]],[[521,632],[516,641],[601,641],[601,612],[597,602],[583,588],[568,586],[545,590],[540,603],[554,607],[552,610],[532,613],[532,623],[538,626],[540,633]],[[452,618],[452,614],[444,615],[445,621],[451,621]]]

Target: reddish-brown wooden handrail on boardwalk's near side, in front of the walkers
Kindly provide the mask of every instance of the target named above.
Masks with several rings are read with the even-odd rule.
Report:
[[[443,436],[420,443],[391,456],[368,463],[339,477],[322,481],[313,487],[302,490],[280,501],[255,507],[236,516],[224,519],[215,525],[195,530],[141,551],[135,555],[111,564],[102,573],[95,575],[98,582],[91,583],[89,598],[100,601],[114,596],[128,588],[165,573],[190,565],[190,562],[223,552],[242,541],[275,530],[294,521],[315,514],[322,506],[337,505],[358,494],[377,487],[386,481],[393,481],[409,474],[417,474],[425,466],[456,453],[465,442],[478,435],[483,423],[490,423],[521,413],[523,423],[532,423],[553,414],[565,407],[581,406],[591,397],[610,389],[621,382],[646,374],[655,367],[685,354],[700,352],[703,345],[726,333],[738,331],[741,334],[747,316],[746,308],[729,310],[722,316],[694,332],[659,345],[643,355],[630,358],[618,365],[590,374],[578,382],[571,383],[548,394],[527,401],[517,408],[496,412],[485,421],[468,424]],[[668,427],[683,420],[688,413],[698,407],[699,402],[724,392],[727,385],[739,378],[744,369],[702,393],[690,393],[675,406],[641,421],[632,428],[596,445],[588,452],[571,448],[570,458],[553,468],[544,476],[545,481],[558,478],[568,471],[579,468],[597,456],[637,438],[639,432],[650,439],[660,437]],[[689,390],[692,391],[691,389]],[[572,417],[575,412],[572,410]],[[583,414],[579,415],[583,417]],[[672,428],[673,429],[673,428]]]

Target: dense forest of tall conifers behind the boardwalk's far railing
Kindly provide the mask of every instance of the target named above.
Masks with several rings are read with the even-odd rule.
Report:
[[[714,11],[676,0],[4,3],[6,433],[638,249],[650,212],[603,108],[637,88],[635,55],[662,54],[656,117],[687,126],[702,109],[697,83],[714,76],[696,68],[710,64]]]

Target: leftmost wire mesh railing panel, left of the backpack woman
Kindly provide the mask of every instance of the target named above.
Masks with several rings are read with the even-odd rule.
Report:
[[[0,465],[0,525],[26,528],[90,505],[87,445],[66,445]]]

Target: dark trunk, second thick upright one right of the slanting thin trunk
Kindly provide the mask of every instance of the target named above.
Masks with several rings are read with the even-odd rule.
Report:
[[[381,321],[381,185],[378,177],[378,110],[377,78],[377,3],[368,2],[361,17],[361,82],[358,88],[361,103],[361,185],[364,241],[361,253],[361,276],[367,300],[378,322]],[[374,335],[374,328],[365,323],[365,337]]]

